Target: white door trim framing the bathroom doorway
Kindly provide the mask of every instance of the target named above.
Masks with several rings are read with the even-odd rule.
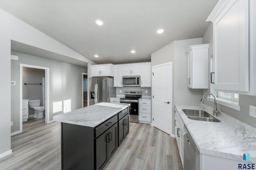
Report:
[[[19,131],[20,133],[22,133],[22,68],[23,67],[45,70],[45,81],[46,81],[45,123],[50,122],[50,68],[20,63],[20,131]]]

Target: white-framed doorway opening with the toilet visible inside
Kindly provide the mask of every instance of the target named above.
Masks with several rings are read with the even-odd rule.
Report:
[[[50,68],[20,64],[20,133],[28,121],[49,121]]]

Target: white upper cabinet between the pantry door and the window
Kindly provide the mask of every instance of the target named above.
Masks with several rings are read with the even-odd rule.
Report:
[[[208,88],[209,45],[190,45],[186,51],[188,54],[188,88]]]

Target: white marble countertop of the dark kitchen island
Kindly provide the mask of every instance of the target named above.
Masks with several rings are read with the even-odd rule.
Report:
[[[129,105],[127,104],[102,102],[88,107],[76,109],[68,113],[55,115],[53,120],[74,125],[96,127],[100,123],[114,116],[116,113],[122,111],[122,109],[125,109],[128,106]]]

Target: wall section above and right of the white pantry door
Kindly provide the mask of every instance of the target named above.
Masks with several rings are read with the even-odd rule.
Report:
[[[187,55],[186,49],[190,45],[202,44],[202,38],[173,41],[162,49],[151,54],[152,66],[172,61],[172,113],[175,104],[198,105],[202,97],[201,89],[189,89],[187,87]],[[174,125],[174,114],[172,114]],[[172,128],[174,134],[174,128]]]

